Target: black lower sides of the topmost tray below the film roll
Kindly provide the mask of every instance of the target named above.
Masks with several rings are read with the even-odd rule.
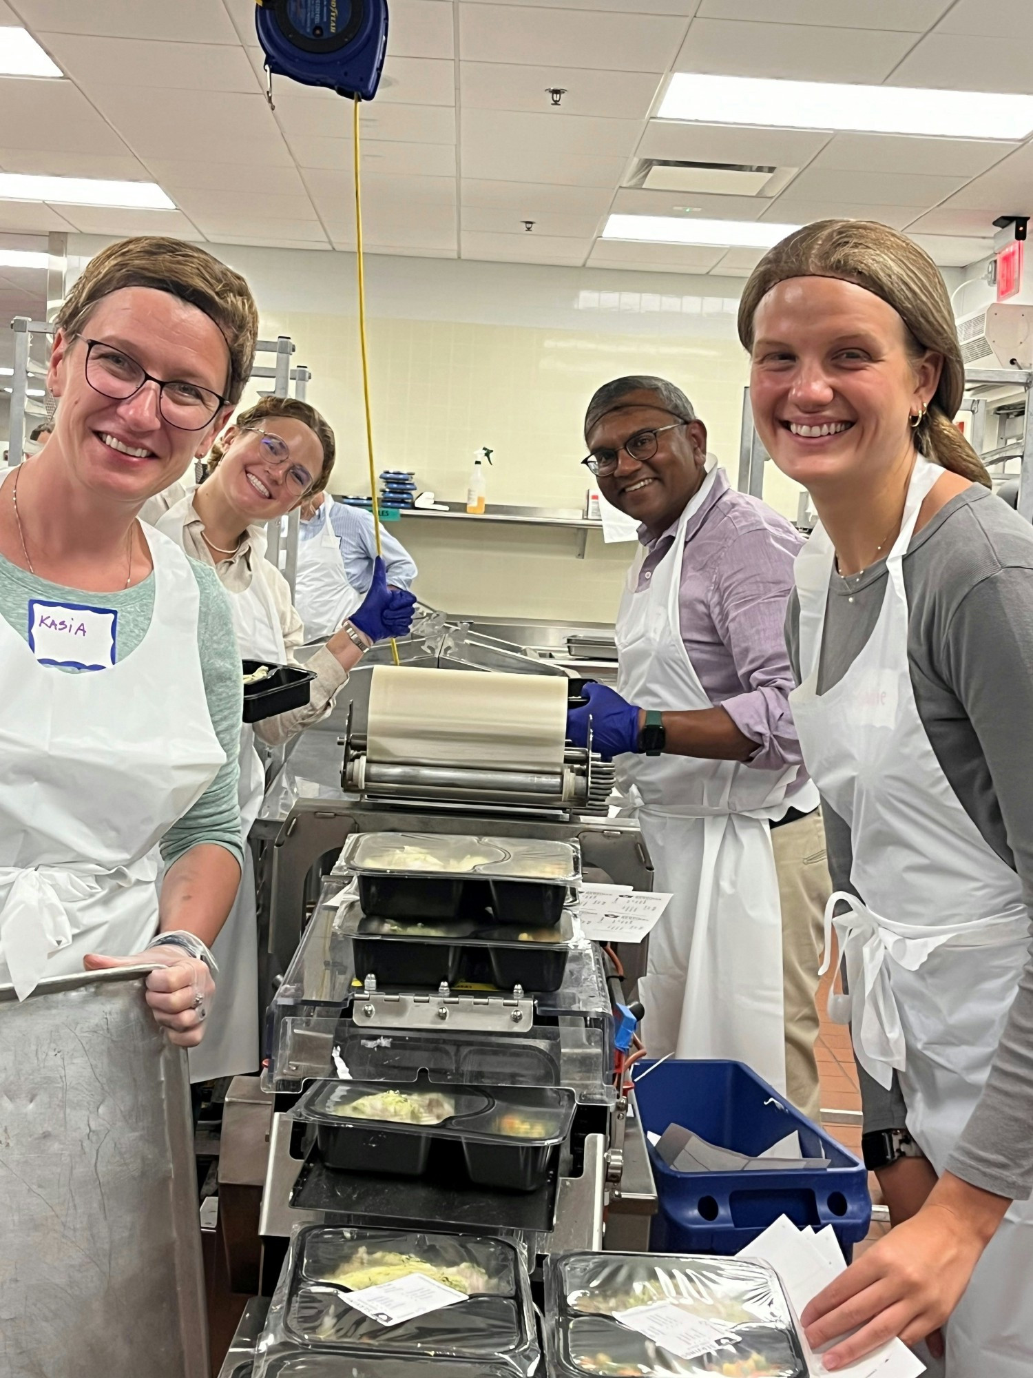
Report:
[[[479,923],[551,929],[559,923],[569,887],[547,881],[503,881],[457,875],[362,875],[362,912],[380,919],[474,919]]]

